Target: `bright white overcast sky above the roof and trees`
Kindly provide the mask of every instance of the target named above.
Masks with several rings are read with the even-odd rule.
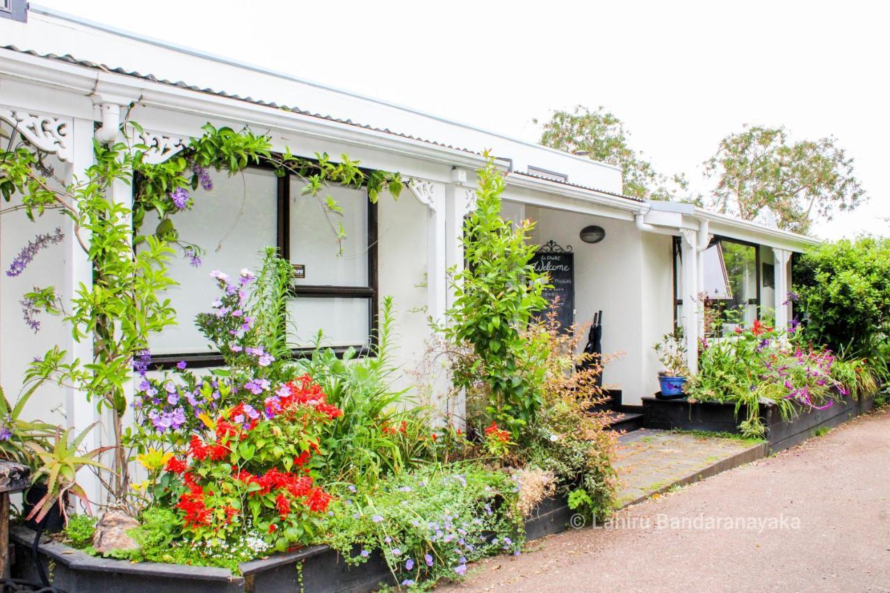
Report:
[[[624,120],[636,150],[700,191],[701,162],[743,124],[834,135],[871,200],[816,232],[890,234],[890,4],[37,4],[526,140],[538,140],[532,118],[603,105]]]

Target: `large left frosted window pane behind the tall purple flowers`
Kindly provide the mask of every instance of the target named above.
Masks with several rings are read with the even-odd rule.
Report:
[[[271,171],[247,168],[231,177],[216,172],[211,176],[214,189],[193,192],[194,207],[174,218],[180,238],[206,253],[197,268],[182,256],[182,250],[170,262],[170,275],[179,286],[168,289],[162,298],[170,299],[179,325],[152,337],[154,354],[209,352],[194,320],[195,315],[209,310],[216,297],[210,272],[221,270],[236,276],[241,268],[255,270],[262,261],[263,248],[278,242],[278,178]],[[147,218],[146,227],[149,224]]]

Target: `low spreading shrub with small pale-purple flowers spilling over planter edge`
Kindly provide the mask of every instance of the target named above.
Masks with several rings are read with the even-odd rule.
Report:
[[[353,565],[380,554],[406,587],[457,581],[473,560],[518,555],[525,540],[518,486],[478,463],[418,467],[373,490],[347,485],[340,498],[328,544]]]

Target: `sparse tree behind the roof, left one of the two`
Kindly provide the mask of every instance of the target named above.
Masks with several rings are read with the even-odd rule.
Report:
[[[534,122],[537,124],[538,120]],[[599,107],[595,111],[582,105],[569,111],[554,111],[544,124],[541,144],[556,150],[583,154],[592,160],[621,167],[624,193],[640,199],[676,199],[678,190],[687,183],[682,175],[670,180],[659,174],[648,160],[627,144],[629,133],[624,123],[611,112]],[[668,187],[676,185],[675,189]]]

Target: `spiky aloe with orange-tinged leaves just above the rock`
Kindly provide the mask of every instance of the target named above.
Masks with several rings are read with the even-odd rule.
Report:
[[[70,438],[73,428],[62,430],[60,427],[56,427],[52,443],[40,443],[39,441],[27,443],[28,449],[33,451],[36,458],[42,463],[36,470],[34,482],[36,483],[40,478],[45,478],[46,484],[46,494],[37,501],[30,514],[28,514],[28,520],[36,517],[37,523],[40,523],[43,521],[44,516],[53,508],[53,505],[58,502],[61,516],[67,524],[68,516],[65,513],[63,504],[67,492],[71,492],[77,498],[83,500],[86,512],[90,515],[93,514],[84,488],[77,483],[77,470],[82,467],[92,466],[110,471],[108,467],[101,465],[94,459],[103,451],[113,449],[113,447],[97,447],[93,451],[87,451],[83,454],[77,451],[86,435],[93,430],[93,426],[95,426],[95,423],[87,426],[73,440]]]

